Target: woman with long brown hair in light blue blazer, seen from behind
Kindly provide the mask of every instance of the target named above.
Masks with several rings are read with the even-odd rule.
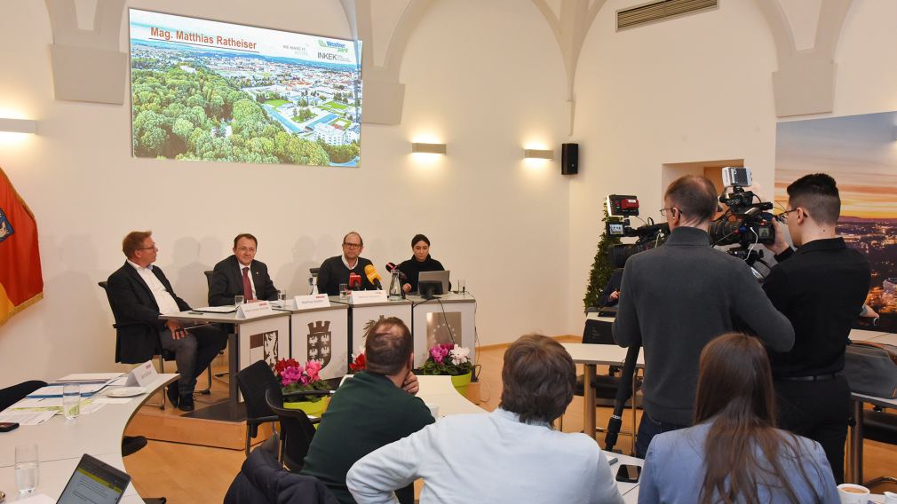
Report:
[[[701,352],[694,427],[651,440],[639,502],[837,504],[823,448],[775,428],[770,361],[738,333]]]

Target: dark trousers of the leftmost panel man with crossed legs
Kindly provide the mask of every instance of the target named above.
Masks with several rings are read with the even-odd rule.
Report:
[[[196,377],[203,374],[218,352],[227,347],[227,334],[217,326],[198,326],[187,331],[179,340],[171,337],[165,329],[159,334],[162,348],[174,352],[178,363],[180,395],[192,395],[196,388]]]

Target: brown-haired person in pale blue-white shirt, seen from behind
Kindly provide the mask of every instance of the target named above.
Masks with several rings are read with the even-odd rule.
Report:
[[[346,475],[355,501],[394,503],[395,489],[423,478],[426,504],[623,504],[595,440],[552,429],[576,385],[561,344],[519,338],[505,352],[501,379],[494,412],[441,418],[356,462]]]

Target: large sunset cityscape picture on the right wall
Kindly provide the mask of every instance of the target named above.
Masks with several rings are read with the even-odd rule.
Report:
[[[866,303],[883,331],[897,332],[897,112],[779,123],[776,129],[776,201],[809,173],[838,182],[838,234],[869,258],[872,285]],[[864,327],[867,328],[867,327]]]

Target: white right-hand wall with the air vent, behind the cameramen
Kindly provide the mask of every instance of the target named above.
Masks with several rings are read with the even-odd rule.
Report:
[[[640,196],[643,216],[659,221],[664,163],[744,159],[764,196],[773,195],[771,72],[778,62],[757,5],[720,2],[716,11],[615,32],[615,11],[632,4],[605,4],[579,61],[573,141],[582,145],[582,166],[570,185],[570,332],[583,320],[607,194]],[[897,3],[853,3],[835,56],[834,111],[817,117],[897,109],[894,19]],[[817,20],[790,21],[803,31]]]

